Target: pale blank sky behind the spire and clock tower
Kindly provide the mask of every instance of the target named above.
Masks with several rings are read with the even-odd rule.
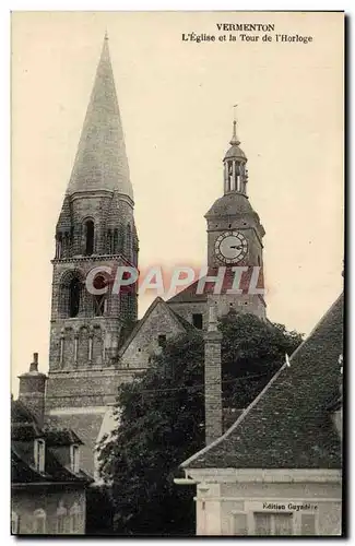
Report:
[[[12,15],[12,390],[48,370],[55,228],[107,29],[140,265],[206,260],[238,104],[248,192],[265,228],[268,317],[309,333],[342,290],[343,15],[16,12]],[[216,23],[274,24],[229,41]],[[184,41],[182,34],[215,35]],[[218,36],[226,34],[226,41]],[[238,33],[233,33],[238,34]],[[312,41],[275,41],[275,34]],[[156,294],[140,301],[140,317]]]

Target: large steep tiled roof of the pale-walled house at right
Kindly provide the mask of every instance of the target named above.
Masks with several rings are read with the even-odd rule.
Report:
[[[184,468],[340,468],[329,414],[339,389],[343,295],[235,424]]]

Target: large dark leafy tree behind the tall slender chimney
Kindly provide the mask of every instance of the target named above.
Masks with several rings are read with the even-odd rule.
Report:
[[[218,328],[224,406],[244,408],[301,335],[253,314],[233,312]],[[203,359],[200,331],[177,336],[143,375],[119,389],[115,411],[120,424],[99,455],[119,534],[194,534],[192,488],[177,487],[174,476],[204,447]]]

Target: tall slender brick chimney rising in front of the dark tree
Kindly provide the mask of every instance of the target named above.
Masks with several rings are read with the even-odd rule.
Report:
[[[216,308],[209,309],[209,325],[204,334],[204,427],[206,446],[223,434],[222,415],[222,333],[217,329]]]

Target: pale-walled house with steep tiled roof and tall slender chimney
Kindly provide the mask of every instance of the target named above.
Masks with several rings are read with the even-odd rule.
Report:
[[[210,320],[206,447],[175,480],[196,484],[197,534],[340,535],[343,296],[225,434],[218,344]]]

